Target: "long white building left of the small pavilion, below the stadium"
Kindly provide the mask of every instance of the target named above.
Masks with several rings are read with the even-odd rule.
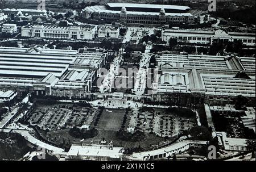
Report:
[[[53,39],[92,40],[97,26],[52,26],[32,25],[22,27],[23,37],[41,37]]]

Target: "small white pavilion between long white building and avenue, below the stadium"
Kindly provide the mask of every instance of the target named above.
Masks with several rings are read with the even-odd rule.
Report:
[[[119,36],[119,28],[114,27],[111,24],[102,25],[98,30],[98,37],[118,38],[118,36]]]

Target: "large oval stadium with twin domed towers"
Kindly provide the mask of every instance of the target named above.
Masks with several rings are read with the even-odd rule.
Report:
[[[186,6],[108,3],[106,6],[86,7],[86,18],[119,21],[124,24],[192,24],[194,17]]]

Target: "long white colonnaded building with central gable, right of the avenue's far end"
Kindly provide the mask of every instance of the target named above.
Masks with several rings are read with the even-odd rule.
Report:
[[[178,42],[212,44],[214,39],[225,41],[241,40],[243,44],[255,46],[255,33],[225,32],[223,30],[215,31],[197,31],[197,30],[162,30],[162,40],[169,41],[170,38],[176,38]]]

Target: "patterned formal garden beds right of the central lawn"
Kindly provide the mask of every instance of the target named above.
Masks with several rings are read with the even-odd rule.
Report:
[[[139,110],[135,122],[137,130],[155,133],[161,137],[176,137],[197,126],[196,113],[182,107],[143,107]]]

